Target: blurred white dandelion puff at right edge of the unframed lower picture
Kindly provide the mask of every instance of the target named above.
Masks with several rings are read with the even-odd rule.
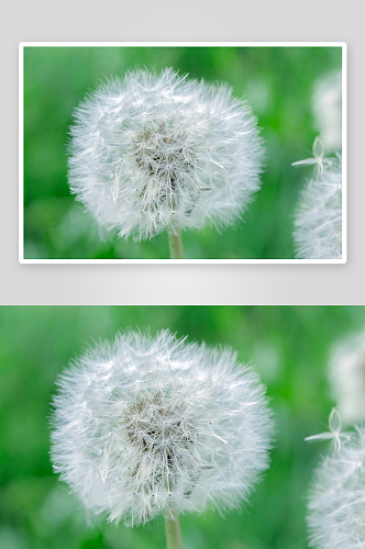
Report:
[[[365,421],[365,329],[333,346],[329,361],[332,395],[347,425]]]

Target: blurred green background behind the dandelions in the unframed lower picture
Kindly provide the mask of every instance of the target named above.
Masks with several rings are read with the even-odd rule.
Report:
[[[118,329],[169,328],[189,341],[232,346],[267,385],[277,436],[272,466],[245,505],[222,518],[181,517],[184,549],[305,549],[306,495],[329,442],[327,361],[334,341],[365,325],[364,306],[0,307],[0,547],[161,549],[163,520],[118,528],[85,512],[49,462],[49,402],[70,357]]]

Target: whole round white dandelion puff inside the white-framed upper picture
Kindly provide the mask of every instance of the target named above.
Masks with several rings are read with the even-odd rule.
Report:
[[[259,189],[256,119],[225,85],[135,69],[99,86],[74,116],[71,192],[120,237],[231,225]]]

